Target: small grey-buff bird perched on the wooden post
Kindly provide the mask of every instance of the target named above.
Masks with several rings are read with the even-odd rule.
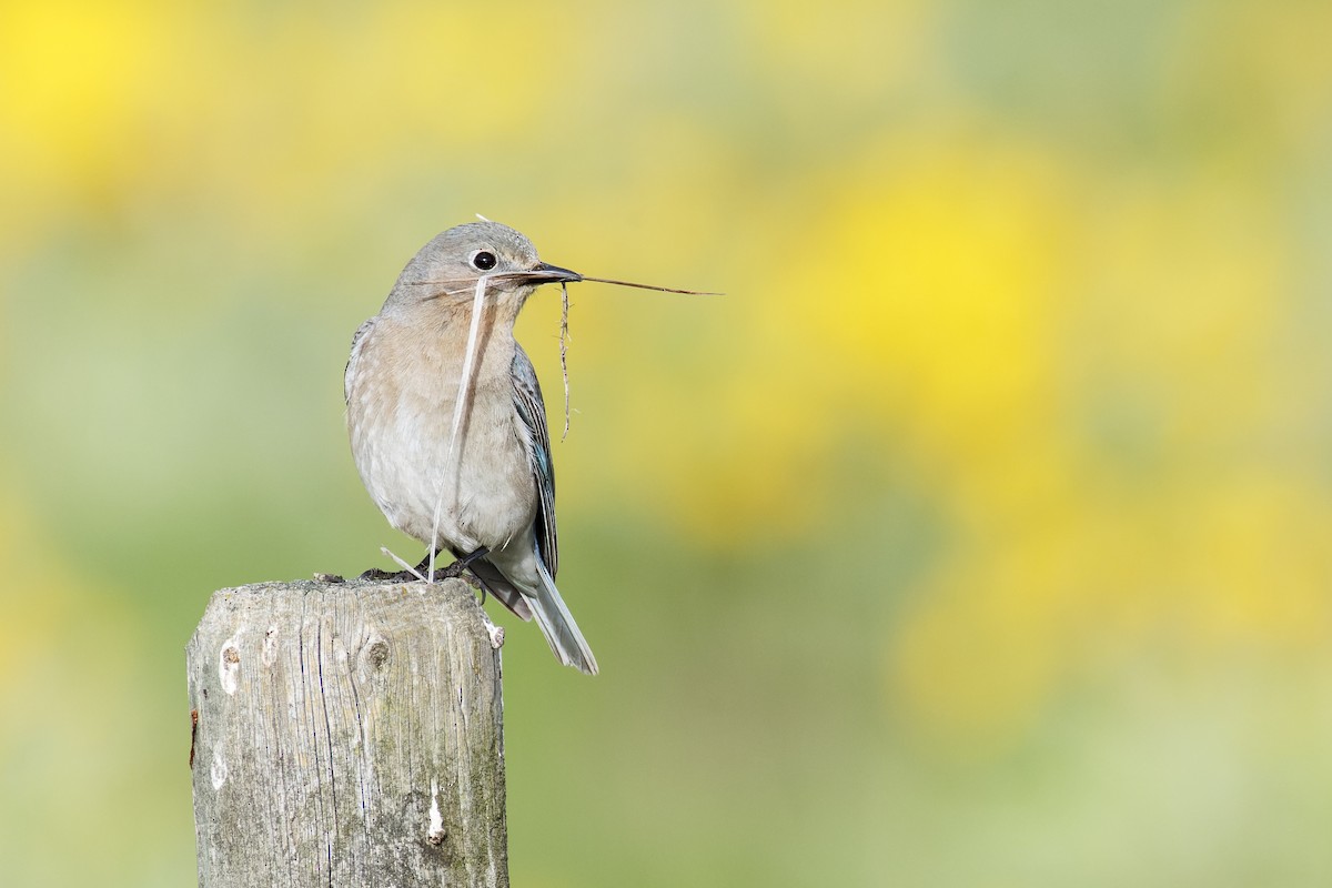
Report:
[[[598,672],[555,587],[555,477],[541,385],[514,322],[543,284],[583,280],[542,262],[519,232],[482,220],[437,234],[352,337],[344,374],[352,455],[397,530],[523,620],[555,658]]]

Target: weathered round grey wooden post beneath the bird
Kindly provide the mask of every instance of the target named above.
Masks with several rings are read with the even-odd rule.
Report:
[[[461,580],[216,592],[186,648],[201,888],[507,887],[498,640]]]

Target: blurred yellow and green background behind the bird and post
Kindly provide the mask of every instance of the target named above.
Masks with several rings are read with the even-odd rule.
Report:
[[[587,274],[514,884],[1332,883],[1324,0],[8,3],[0,869],[192,884],[214,588],[416,559],[352,332]],[[562,413],[558,290],[519,325]],[[490,607],[493,615],[497,608]]]

